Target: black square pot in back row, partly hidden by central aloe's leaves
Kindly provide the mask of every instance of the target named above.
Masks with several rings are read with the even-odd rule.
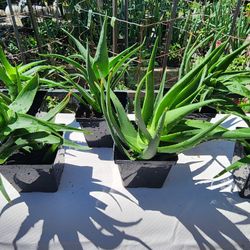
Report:
[[[115,91],[115,94],[123,107],[126,108],[127,92]],[[89,107],[80,104],[76,111],[76,121],[80,123],[81,128],[91,132],[89,135],[84,135],[89,147],[113,147],[113,139],[102,114],[93,113]]]

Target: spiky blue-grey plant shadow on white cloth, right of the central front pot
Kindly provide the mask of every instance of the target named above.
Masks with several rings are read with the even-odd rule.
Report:
[[[213,145],[211,143],[209,146],[214,147]],[[195,152],[204,155],[202,150],[204,147],[195,149]],[[233,187],[232,177],[213,182],[199,177],[207,168],[213,167],[213,161],[222,165],[216,158],[218,155],[214,149],[214,154],[204,164],[201,159],[197,159],[173,167],[163,188],[129,189],[129,192],[144,211],[159,211],[163,215],[176,218],[173,242],[176,240],[174,235],[183,235],[183,232],[188,230],[195,240],[195,245],[191,245],[191,248],[198,246],[199,249],[205,250],[218,249],[219,246],[221,249],[250,249],[249,236],[244,235],[237,227],[250,226],[249,211],[237,206],[247,200],[240,198],[237,192],[221,192],[229,186]],[[191,164],[201,165],[191,171]],[[223,212],[238,214],[241,221],[234,223],[223,215]]]

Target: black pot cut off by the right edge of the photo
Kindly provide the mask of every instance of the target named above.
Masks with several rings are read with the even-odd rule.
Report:
[[[236,141],[232,162],[234,163],[246,155],[245,148]],[[240,197],[250,199],[250,164],[234,170],[233,177],[238,186]]]

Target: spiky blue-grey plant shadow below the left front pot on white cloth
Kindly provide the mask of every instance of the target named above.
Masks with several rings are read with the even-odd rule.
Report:
[[[123,240],[129,240],[150,249],[139,238],[124,232],[124,228],[136,225],[141,219],[122,222],[112,218],[105,214],[108,204],[93,196],[92,192],[110,195],[115,202],[112,193],[125,197],[124,194],[93,179],[92,167],[67,165],[66,168],[68,171],[65,169],[67,176],[64,176],[64,185],[60,186],[57,193],[24,193],[2,209],[0,221],[8,209],[21,203],[25,203],[28,209],[27,217],[12,242],[14,249],[18,249],[18,241],[39,221],[43,222],[43,226],[36,249],[49,249],[50,241],[57,236],[63,249],[81,250],[83,245],[78,234],[83,235],[96,248],[114,249]],[[72,176],[68,176],[70,174]],[[117,209],[121,209],[118,203]]]

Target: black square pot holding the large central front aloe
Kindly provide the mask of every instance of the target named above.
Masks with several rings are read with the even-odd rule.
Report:
[[[128,188],[161,188],[177,160],[176,154],[157,154],[150,160],[132,161],[114,146],[114,162]]]

